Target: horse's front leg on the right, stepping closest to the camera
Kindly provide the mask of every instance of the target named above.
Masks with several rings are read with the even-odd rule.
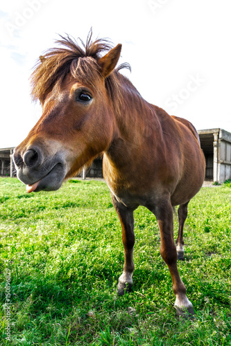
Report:
[[[175,307],[178,316],[185,311],[194,314],[194,308],[187,298],[185,284],[180,279],[177,267],[177,251],[173,239],[173,210],[170,201],[162,201],[160,206],[153,211],[160,229],[161,246],[160,253],[164,262],[169,266],[173,281],[173,292],[176,295]]]

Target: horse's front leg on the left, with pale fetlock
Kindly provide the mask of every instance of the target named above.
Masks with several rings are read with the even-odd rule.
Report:
[[[132,287],[132,275],[135,268],[133,262],[133,247],[135,244],[133,210],[119,203],[114,196],[112,196],[112,203],[117,211],[122,226],[124,265],[123,273],[119,277],[118,294],[123,295],[129,292]]]

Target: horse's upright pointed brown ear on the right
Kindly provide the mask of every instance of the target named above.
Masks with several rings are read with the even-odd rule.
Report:
[[[121,53],[121,44],[117,44],[116,47],[112,48],[104,57],[98,61],[99,66],[101,66],[101,73],[103,78],[108,77],[110,73],[114,70],[115,66],[117,66],[117,62]]]

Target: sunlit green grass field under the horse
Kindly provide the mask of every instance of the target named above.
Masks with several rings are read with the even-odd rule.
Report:
[[[134,286],[119,297],[121,226],[105,183],[73,180],[26,194],[17,179],[1,178],[0,345],[231,345],[230,210],[228,183],[189,203],[178,268],[196,316],[185,320],[176,318],[151,212],[135,211]]]

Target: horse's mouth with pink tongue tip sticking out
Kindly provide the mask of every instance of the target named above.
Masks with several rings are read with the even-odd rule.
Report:
[[[35,183],[27,183],[26,192],[54,191],[58,190],[65,179],[66,169],[62,163],[57,163],[46,175]],[[22,177],[21,181],[24,183]]]

